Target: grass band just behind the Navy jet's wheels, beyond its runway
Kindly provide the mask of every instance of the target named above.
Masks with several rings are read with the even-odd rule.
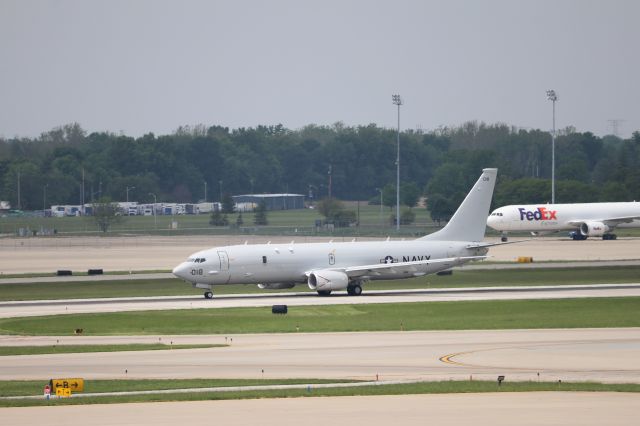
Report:
[[[528,270],[458,270],[453,275],[427,275],[396,281],[371,281],[363,290],[413,288],[530,286],[638,282],[640,266],[562,268]],[[303,292],[311,290],[305,284],[286,290],[261,290],[256,285],[232,285],[214,288],[214,294]],[[0,285],[0,301],[86,299],[103,297],[153,297],[201,295],[179,279],[84,281]]]

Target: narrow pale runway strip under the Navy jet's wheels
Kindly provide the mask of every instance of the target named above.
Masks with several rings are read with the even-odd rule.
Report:
[[[361,296],[346,291],[319,297],[313,292],[264,293],[202,296],[157,296],[103,299],[65,299],[0,302],[0,318],[175,309],[266,307],[272,305],[312,306],[366,303],[443,302],[461,300],[564,299],[583,297],[640,296],[640,283],[530,287],[475,287],[446,289],[374,290]]]

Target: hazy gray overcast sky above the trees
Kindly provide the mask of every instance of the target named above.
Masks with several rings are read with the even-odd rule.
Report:
[[[465,121],[640,129],[640,2],[0,0],[0,135]]]

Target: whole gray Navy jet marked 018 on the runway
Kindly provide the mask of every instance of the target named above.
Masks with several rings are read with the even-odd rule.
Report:
[[[215,247],[192,254],[173,274],[204,289],[207,299],[216,285],[281,289],[305,282],[321,296],[345,289],[357,296],[368,280],[411,278],[484,259],[495,245],[482,239],[497,172],[484,169],[447,225],[416,240]]]

